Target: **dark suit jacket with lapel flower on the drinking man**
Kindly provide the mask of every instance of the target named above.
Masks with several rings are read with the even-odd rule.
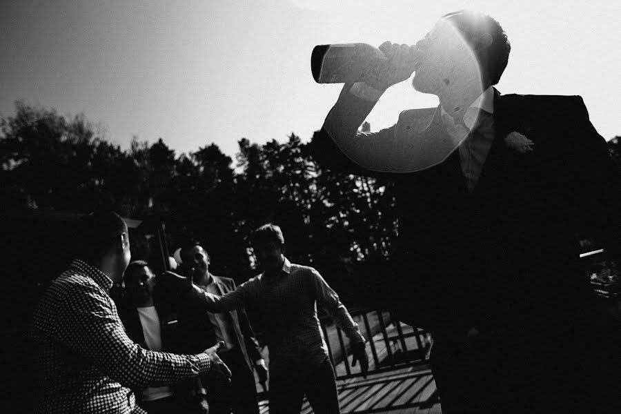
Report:
[[[495,91],[495,139],[470,194],[457,151],[419,172],[372,170],[364,157],[373,153],[344,155],[343,141],[362,139],[370,148],[386,142],[402,157],[421,125],[433,145],[408,156],[451,146],[440,107],[406,110],[390,128],[356,134],[374,103],[349,94],[350,86],[328,115],[338,122],[315,134],[311,152],[324,168],[387,177],[395,185],[399,235],[395,277],[382,284],[386,306],[435,332],[562,329],[584,312],[591,289],[578,264],[576,234],[607,233],[607,248],[618,255],[614,216],[621,204],[607,146],[582,98]],[[512,131],[534,141],[534,151],[508,148],[504,137]]]

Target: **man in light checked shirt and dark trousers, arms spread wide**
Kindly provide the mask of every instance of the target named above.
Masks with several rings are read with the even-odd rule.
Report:
[[[262,314],[270,355],[270,414],[299,413],[304,395],[316,414],[339,413],[335,375],[317,317],[317,305],[334,318],[349,338],[353,365],[368,369],[365,339],[335,291],[317,270],[284,257],[279,226],[266,224],[253,235],[264,273],[224,296],[193,286],[208,311],[256,308]]]

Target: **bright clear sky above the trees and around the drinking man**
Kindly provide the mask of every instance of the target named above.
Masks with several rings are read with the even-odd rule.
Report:
[[[14,101],[84,112],[128,148],[133,135],[180,152],[242,137],[308,140],[341,86],[311,76],[317,44],[413,44],[442,14],[471,8],[511,41],[502,93],[582,95],[600,134],[621,135],[621,2],[578,0],[2,1],[0,115]],[[368,121],[437,105],[409,82]]]

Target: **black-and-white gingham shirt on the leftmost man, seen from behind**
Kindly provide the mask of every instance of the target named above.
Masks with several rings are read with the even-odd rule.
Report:
[[[130,388],[209,371],[206,354],[147,351],[132,342],[108,296],[112,281],[75,260],[34,311],[37,412],[142,413]]]

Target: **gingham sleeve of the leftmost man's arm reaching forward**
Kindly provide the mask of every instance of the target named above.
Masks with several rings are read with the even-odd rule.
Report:
[[[61,342],[128,388],[168,385],[210,370],[206,354],[148,351],[132,342],[115,304],[97,286],[76,285],[66,297]]]

